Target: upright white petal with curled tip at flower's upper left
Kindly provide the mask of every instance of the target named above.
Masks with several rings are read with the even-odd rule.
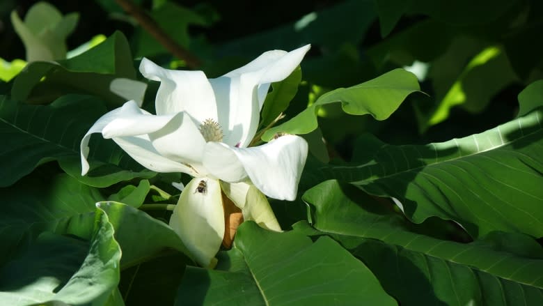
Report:
[[[169,70],[143,58],[139,70],[144,77],[160,81],[155,108],[157,115],[187,112],[198,122],[217,121],[217,102],[202,71]]]

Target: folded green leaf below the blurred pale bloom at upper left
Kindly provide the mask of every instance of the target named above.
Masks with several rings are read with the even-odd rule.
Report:
[[[111,91],[118,78],[135,79],[132,54],[123,33],[115,32],[100,45],[72,59],[56,62],[29,63],[13,82],[13,99],[46,104],[67,93],[90,93],[108,101],[111,106],[126,102]],[[139,83],[136,83],[139,84]],[[134,98],[143,96],[145,84],[134,89]]]

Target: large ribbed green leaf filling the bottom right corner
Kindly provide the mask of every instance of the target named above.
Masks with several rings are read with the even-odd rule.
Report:
[[[462,244],[430,238],[407,231],[401,217],[360,192],[337,181],[317,185],[304,200],[314,207],[318,231],[304,223],[294,228],[339,240],[402,305],[543,303],[543,250],[533,238],[515,234],[517,239],[508,240],[517,250],[530,250],[530,257],[510,252],[507,239],[496,250],[496,243],[485,240]]]

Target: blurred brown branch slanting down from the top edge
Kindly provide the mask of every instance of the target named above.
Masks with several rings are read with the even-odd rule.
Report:
[[[132,0],[116,0],[116,2],[120,7],[123,8],[123,10],[125,10],[126,13],[132,15],[132,17],[134,17],[139,24],[141,24],[145,31],[148,31],[152,37],[166,47],[169,52],[171,52],[178,59],[182,59],[185,63],[187,63],[187,67],[194,69],[200,66],[200,60],[197,59],[196,56],[190,54],[190,52],[184,49],[184,47],[178,45],[178,43],[175,43],[175,40],[168,36],[168,34],[160,28],[157,22],[155,22],[155,20],[145,13],[145,10],[132,3]]]

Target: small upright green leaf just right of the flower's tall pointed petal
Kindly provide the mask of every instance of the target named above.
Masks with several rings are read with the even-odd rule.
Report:
[[[270,123],[287,109],[290,101],[298,91],[301,82],[301,68],[296,68],[281,82],[272,83],[273,91],[266,95],[266,100],[260,114],[260,128],[267,127]]]

